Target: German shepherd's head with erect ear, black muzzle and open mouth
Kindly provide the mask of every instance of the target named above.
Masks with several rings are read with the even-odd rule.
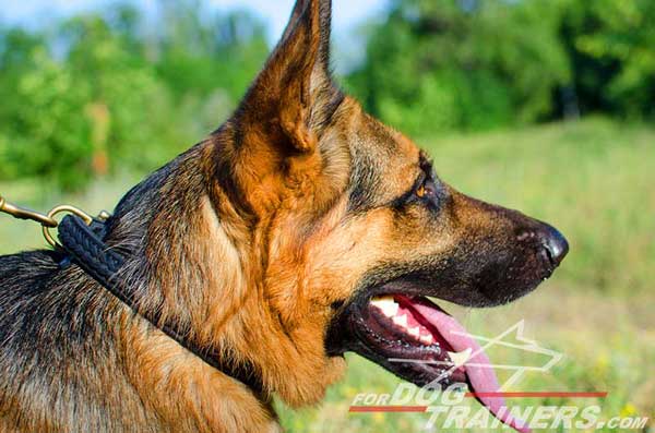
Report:
[[[415,384],[479,387],[451,356],[471,341],[446,335],[457,325],[427,297],[510,302],[552,274],[567,241],[458,193],[416,144],[344,95],[329,70],[330,16],[329,0],[298,0],[239,109],[203,147],[212,236],[243,281],[222,315],[222,345],[291,405],[320,399],[346,351]]]

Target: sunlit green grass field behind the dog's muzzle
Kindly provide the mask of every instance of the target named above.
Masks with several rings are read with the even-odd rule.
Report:
[[[597,401],[602,418],[653,417],[655,129],[588,119],[418,142],[430,151],[440,176],[460,191],[549,221],[571,243],[556,277],[529,297],[493,310],[446,306],[478,335],[493,336],[525,320],[529,337],[565,354],[555,371],[527,374],[514,388],[607,390],[608,397]],[[76,196],[25,181],[0,184],[0,194],[38,209],[66,201],[95,213],[111,208],[135,181],[121,177],[97,182]],[[36,226],[5,216],[0,216],[0,253],[44,245]],[[523,360],[515,352],[491,357],[504,363]],[[348,414],[357,394],[392,393],[398,383],[358,357],[348,357],[348,362],[347,377],[330,389],[320,407],[290,411],[277,405],[288,431],[422,431],[425,414]]]

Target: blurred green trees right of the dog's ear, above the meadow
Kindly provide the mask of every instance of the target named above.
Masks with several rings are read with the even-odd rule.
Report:
[[[655,113],[650,0],[395,0],[348,80],[413,134]]]

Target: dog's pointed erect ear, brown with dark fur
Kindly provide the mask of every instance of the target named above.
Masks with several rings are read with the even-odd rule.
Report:
[[[331,0],[297,0],[283,37],[248,91],[236,121],[288,152],[310,153],[341,101],[330,76]],[[260,135],[261,136],[261,135]]]

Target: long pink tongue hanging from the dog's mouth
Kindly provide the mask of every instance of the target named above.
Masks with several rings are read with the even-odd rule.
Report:
[[[480,345],[468,335],[466,329],[464,329],[454,317],[436,308],[421,305],[419,303],[415,303],[412,306],[430,322],[434,328],[439,329],[439,334],[441,334],[456,352],[471,348],[472,357],[466,361],[464,368],[474,393],[500,392],[500,385],[498,384],[498,378],[496,377],[496,373],[493,373],[489,358],[487,358]],[[531,432],[524,421],[510,417],[505,407],[504,397],[478,397],[478,399],[496,418],[505,424],[521,433]],[[505,407],[505,409],[501,411],[503,407]]]

